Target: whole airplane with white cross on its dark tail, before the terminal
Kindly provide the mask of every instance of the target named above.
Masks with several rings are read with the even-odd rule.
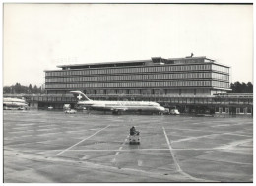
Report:
[[[70,93],[78,99],[77,106],[87,110],[111,111],[113,114],[122,114],[123,112],[162,114],[165,111],[165,108],[157,102],[91,100],[81,91],[70,91]]]

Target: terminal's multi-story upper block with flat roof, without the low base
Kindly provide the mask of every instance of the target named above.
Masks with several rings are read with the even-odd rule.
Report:
[[[230,67],[206,57],[58,66],[45,71],[47,94],[202,96],[226,93]]]

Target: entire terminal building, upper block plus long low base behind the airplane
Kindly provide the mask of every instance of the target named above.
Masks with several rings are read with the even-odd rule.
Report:
[[[230,68],[206,57],[59,66],[45,71],[47,94],[24,95],[30,107],[62,109],[69,91],[96,100],[155,101],[181,113],[252,116],[252,93],[227,93]]]

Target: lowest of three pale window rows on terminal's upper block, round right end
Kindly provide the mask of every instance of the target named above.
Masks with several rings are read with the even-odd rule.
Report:
[[[172,81],[172,82],[125,82],[125,83],[80,83],[80,84],[46,84],[46,89],[52,88],[126,88],[126,87],[169,87],[169,86],[215,86],[228,88],[229,84],[218,81]]]

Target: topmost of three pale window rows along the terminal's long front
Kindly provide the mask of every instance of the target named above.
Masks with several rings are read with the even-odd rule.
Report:
[[[164,65],[155,67],[136,67],[136,68],[113,68],[113,69],[86,69],[75,71],[52,71],[46,72],[47,76],[83,76],[96,74],[124,74],[124,73],[145,73],[145,72],[169,72],[169,71],[194,71],[194,70],[211,70],[211,64],[202,65]]]

